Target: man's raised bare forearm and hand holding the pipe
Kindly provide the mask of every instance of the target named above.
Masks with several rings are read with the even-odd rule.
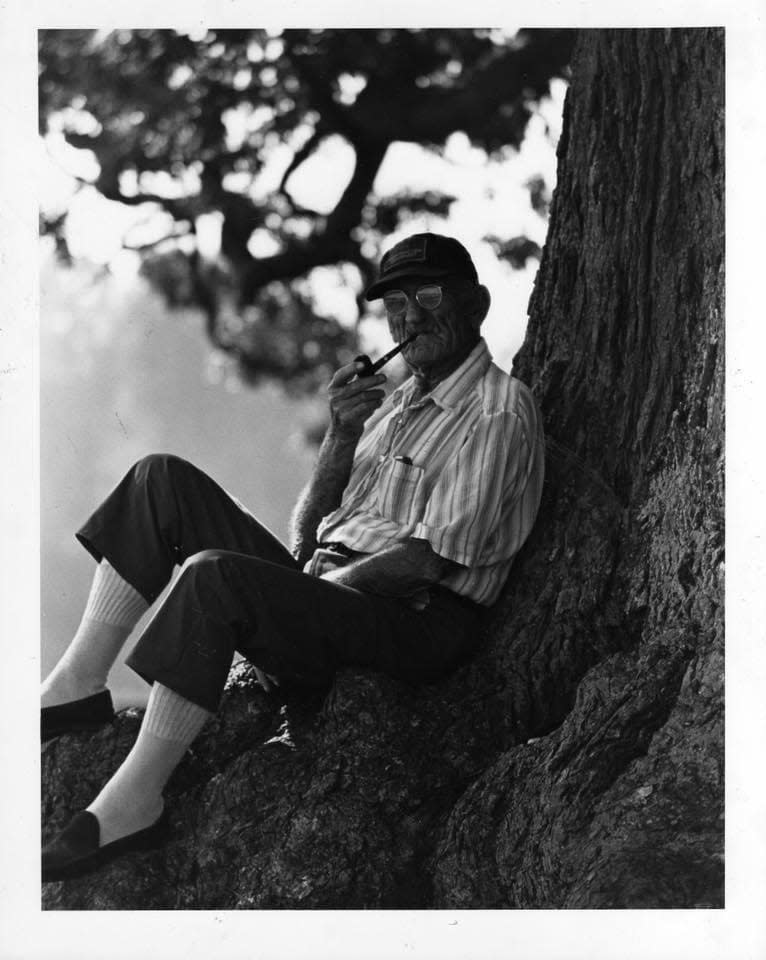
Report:
[[[361,364],[341,367],[330,381],[330,425],[319,448],[314,472],[292,515],[292,549],[299,563],[310,559],[322,517],[340,506],[354,453],[367,419],[383,402],[385,374],[354,379]]]

